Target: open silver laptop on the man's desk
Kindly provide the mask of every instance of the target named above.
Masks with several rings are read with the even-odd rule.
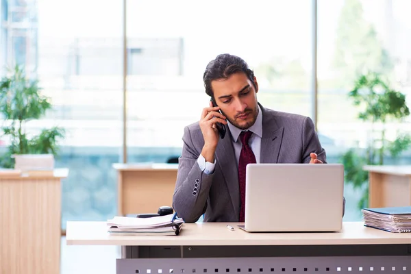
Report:
[[[338,232],[343,164],[248,164],[247,232]]]

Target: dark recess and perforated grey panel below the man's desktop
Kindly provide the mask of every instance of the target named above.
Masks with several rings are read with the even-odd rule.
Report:
[[[411,273],[411,245],[124,247],[118,274]]]

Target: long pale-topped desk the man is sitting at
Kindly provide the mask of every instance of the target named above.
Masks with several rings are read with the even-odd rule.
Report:
[[[110,236],[105,222],[68,222],[66,241],[123,246],[120,274],[411,273],[411,234],[362,223],[344,223],[338,233],[250,234],[227,224],[237,225],[186,223],[179,236]]]

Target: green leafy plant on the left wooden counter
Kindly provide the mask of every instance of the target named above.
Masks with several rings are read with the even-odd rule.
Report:
[[[0,115],[4,125],[3,136],[10,138],[10,146],[0,158],[0,166],[13,167],[13,154],[58,154],[58,139],[64,138],[64,129],[42,129],[40,134],[26,132],[27,122],[40,119],[51,110],[49,98],[41,95],[38,81],[27,79],[24,69],[14,67],[0,82]]]

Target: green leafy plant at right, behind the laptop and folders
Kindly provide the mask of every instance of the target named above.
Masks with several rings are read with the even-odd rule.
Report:
[[[349,149],[341,160],[345,166],[345,182],[362,191],[358,208],[368,206],[368,173],[362,170],[366,164],[384,164],[384,157],[398,157],[411,145],[408,134],[397,133],[395,140],[386,138],[386,123],[401,121],[410,115],[406,96],[390,88],[377,73],[361,75],[356,80],[349,97],[361,110],[358,119],[371,123],[371,136],[365,149]],[[375,127],[379,125],[379,127]]]

